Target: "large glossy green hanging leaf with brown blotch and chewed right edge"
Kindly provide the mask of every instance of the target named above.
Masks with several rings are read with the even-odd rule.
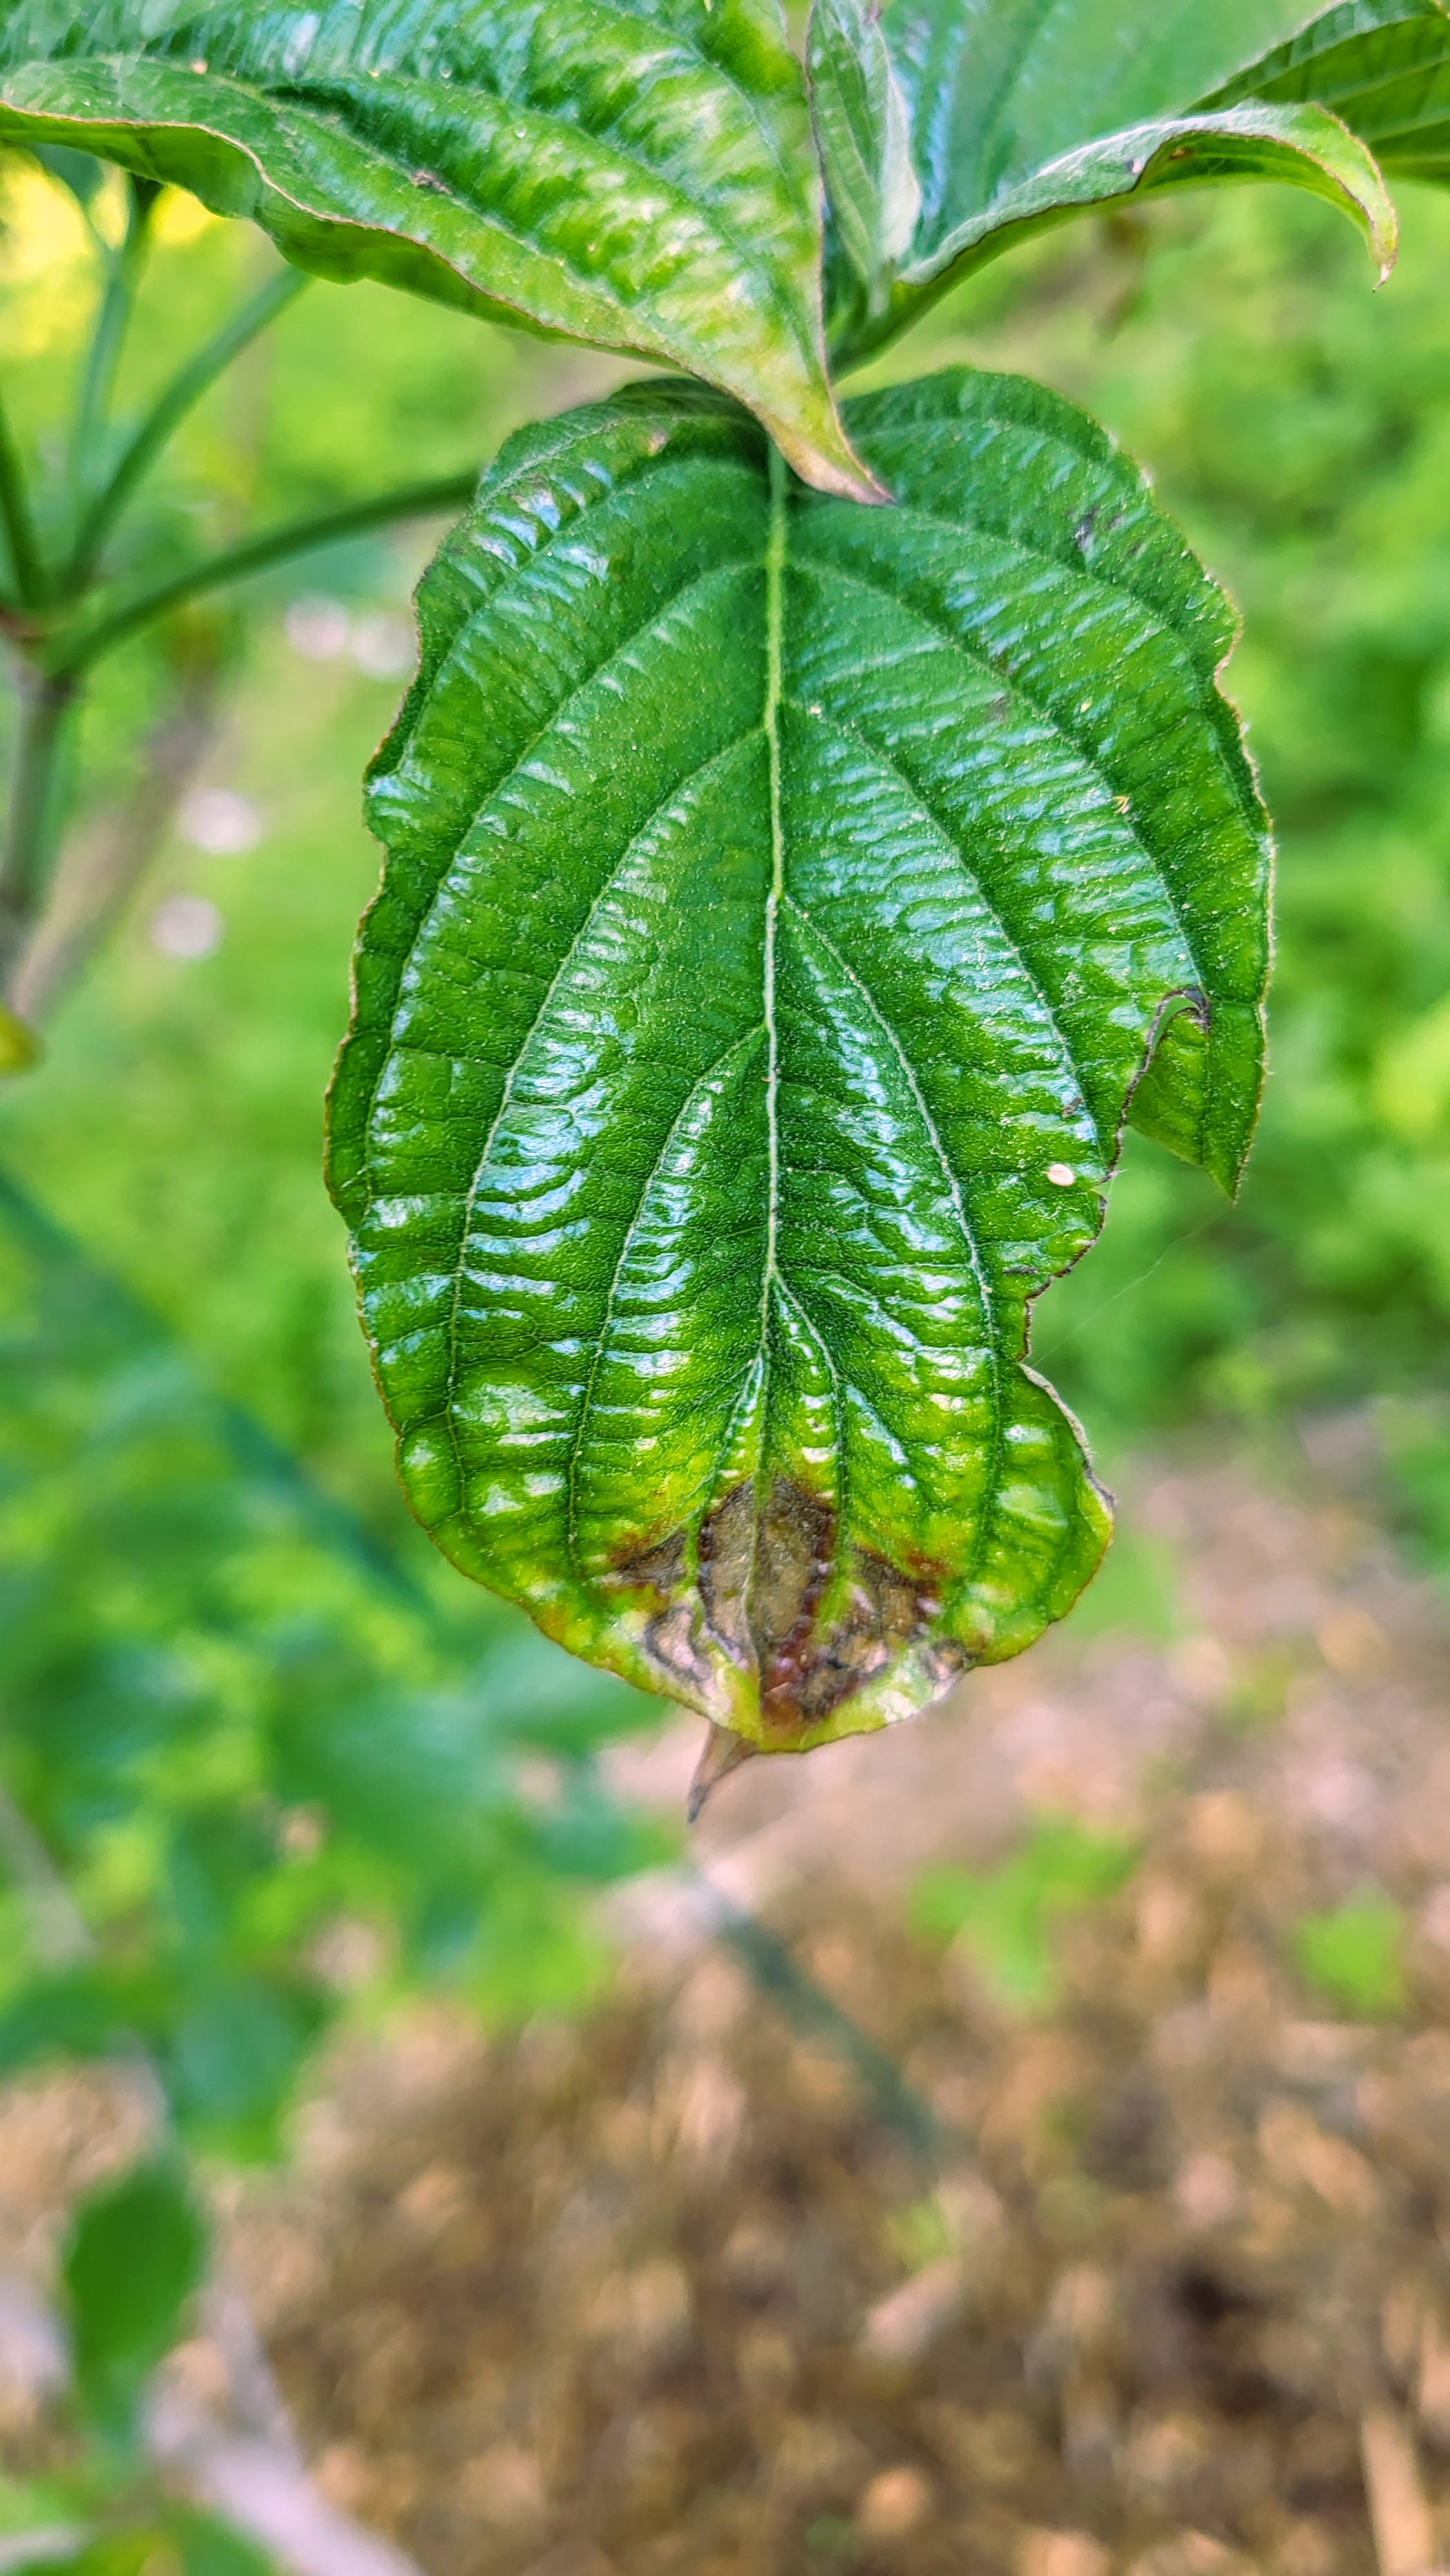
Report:
[[[1234,1185],[1267,837],[1223,598],[1038,386],[510,440],[420,595],[332,1190],[422,1525],[767,1749],[1017,1654],[1107,1510],[1022,1365],[1154,1123]],[[1177,1020],[1172,1023],[1180,1025]]]

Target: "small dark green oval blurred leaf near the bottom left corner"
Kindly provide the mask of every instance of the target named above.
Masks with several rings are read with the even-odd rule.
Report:
[[[131,2432],[203,2275],[206,2221],[175,2164],[142,2164],[80,2202],[62,2277],[75,2391],[98,2429]]]

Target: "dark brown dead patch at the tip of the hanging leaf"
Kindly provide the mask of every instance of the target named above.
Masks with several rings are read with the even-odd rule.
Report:
[[[765,1744],[788,1747],[822,1726],[940,1618],[940,1589],[871,1548],[850,1546],[842,1582],[837,1512],[791,1476],[773,1476],[760,1499],[752,1479],[706,1515],[688,1579],[688,1535],[675,1533],[626,1556],[613,1582],[652,1592],[644,1649],[667,1687],[693,1687],[708,1703],[719,1656],[755,1674]],[[829,1618],[827,1610],[829,1595]],[[966,1664],[950,1641],[932,1649],[945,1687]]]

